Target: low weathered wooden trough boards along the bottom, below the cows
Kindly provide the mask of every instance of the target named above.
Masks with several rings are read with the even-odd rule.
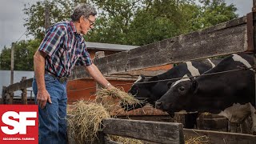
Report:
[[[117,142],[108,139],[106,134],[135,138],[143,140],[145,143],[185,143],[186,140],[190,138],[198,138],[200,136],[208,137],[208,141],[205,143],[254,144],[256,142],[256,136],[250,134],[226,133],[210,130],[188,130],[183,129],[181,123],[174,122],[151,122],[109,118],[104,119],[102,125],[104,128],[99,134],[99,143],[105,144],[117,144]]]

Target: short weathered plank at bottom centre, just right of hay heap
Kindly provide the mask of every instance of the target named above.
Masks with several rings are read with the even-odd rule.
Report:
[[[105,134],[148,142],[184,143],[182,124],[109,118],[102,121]]]

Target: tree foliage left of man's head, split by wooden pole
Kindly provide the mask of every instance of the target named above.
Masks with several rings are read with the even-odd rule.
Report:
[[[87,2],[87,0],[76,0],[76,2]],[[62,22],[70,19],[70,14],[75,6],[74,0],[51,0],[51,2],[36,2],[33,5],[27,4],[23,9],[27,34],[31,34],[34,38],[42,39],[45,30],[45,10],[46,6],[50,10],[50,24]]]

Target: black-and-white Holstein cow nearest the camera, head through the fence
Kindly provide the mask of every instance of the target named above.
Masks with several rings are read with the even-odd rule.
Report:
[[[155,106],[170,114],[181,110],[210,112],[234,123],[241,123],[250,115],[252,132],[256,134],[255,72],[253,69],[238,70],[251,66],[254,66],[252,56],[232,54],[198,78],[183,78],[170,83],[170,89]]]

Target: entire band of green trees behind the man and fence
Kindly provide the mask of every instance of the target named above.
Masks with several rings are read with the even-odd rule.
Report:
[[[234,5],[223,0],[206,0],[198,5],[193,0],[77,0],[90,2],[98,8],[94,31],[86,35],[89,42],[146,45],[194,30],[237,18]],[[69,19],[73,0],[53,0],[51,23]],[[45,4],[37,2],[24,9],[27,30],[42,39]]]

